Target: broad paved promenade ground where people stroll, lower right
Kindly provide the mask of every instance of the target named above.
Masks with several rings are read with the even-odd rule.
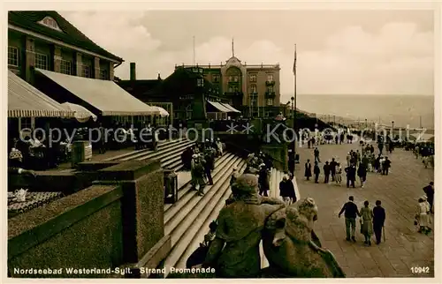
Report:
[[[347,164],[347,152],[357,149],[358,145],[324,145],[318,148],[321,161],[335,157]],[[322,175],[319,181],[323,183],[316,184],[311,179],[306,181],[303,177],[304,163],[307,159],[314,161],[313,149],[303,147],[298,152],[301,163],[296,165],[295,176],[301,198],[311,197],[316,200],[319,213],[316,234],[323,246],[336,256],[347,277],[434,277],[433,233],[419,234],[414,226],[417,198],[424,194],[423,186],[433,180],[432,169],[423,168],[422,161],[416,160],[411,152],[396,149],[389,154],[392,168],[388,176],[369,173],[363,189],[347,189],[345,173],[341,187],[334,183],[324,184]],[[321,172],[323,162],[320,163]],[[370,207],[374,206],[377,199],[382,201],[386,212],[385,243],[377,246],[372,242],[371,247],[365,247],[363,235],[359,233],[359,220],[356,221],[357,243],[345,240],[344,217],[339,219],[338,213],[350,195],[354,196],[359,208],[365,200],[369,200]],[[412,272],[412,267],[427,266],[429,273]]]

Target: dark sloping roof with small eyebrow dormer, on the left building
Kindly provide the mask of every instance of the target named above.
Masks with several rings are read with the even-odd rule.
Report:
[[[57,21],[57,25],[63,30],[63,33],[48,26],[37,24],[38,21],[48,16]],[[75,26],[72,26],[72,24],[58,14],[57,11],[8,11],[8,23],[25,28],[34,33],[49,36],[54,40],[63,41],[78,48],[87,49],[99,55],[110,57],[118,62],[124,61],[122,58],[98,46],[85,34],[82,34]]]

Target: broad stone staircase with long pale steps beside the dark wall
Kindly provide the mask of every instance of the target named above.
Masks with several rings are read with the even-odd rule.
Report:
[[[142,161],[159,159],[163,168],[176,171],[179,179],[178,201],[175,204],[164,205],[164,235],[171,235],[171,251],[164,259],[166,275],[170,267],[185,268],[187,258],[199,247],[209,231],[212,220],[217,219],[219,211],[225,206],[225,199],[231,194],[230,177],[232,168],[237,167],[240,172],[246,168],[246,161],[232,153],[224,153],[215,161],[212,172],[213,185],[207,185],[204,196],[200,197],[197,191],[191,190],[190,173],[182,170],[181,153],[194,142],[187,140],[173,140],[158,145],[158,151],[138,150],[112,157],[107,161]],[[270,196],[279,198],[279,182],[283,172],[272,168]],[[295,186],[296,188],[296,186]],[[297,192],[297,195],[299,193]],[[299,198],[298,198],[299,199]],[[263,252],[262,252],[263,256]],[[263,257],[262,266],[267,266]]]

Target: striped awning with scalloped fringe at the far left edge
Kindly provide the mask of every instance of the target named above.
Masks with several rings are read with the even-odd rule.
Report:
[[[71,110],[8,71],[8,117],[73,117]]]

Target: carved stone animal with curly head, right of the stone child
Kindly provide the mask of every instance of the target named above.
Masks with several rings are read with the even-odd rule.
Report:
[[[345,277],[330,250],[321,248],[313,232],[316,219],[312,198],[271,214],[263,232],[263,250],[270,267],[263,277]]]

